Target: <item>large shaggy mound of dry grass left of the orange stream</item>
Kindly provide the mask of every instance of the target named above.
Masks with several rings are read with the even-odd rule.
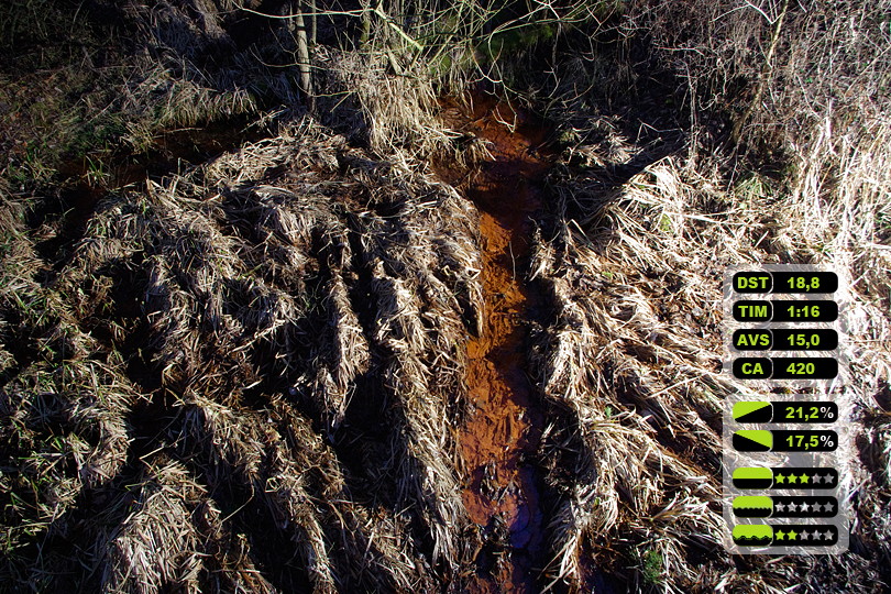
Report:
[[[455,578],[470,551],[442,429],[460,422],[460,337],[482,316],[473,216],[411,157],[378,162],[307,120],[100,201],[52,290],[16,276],[41,265],[23,250],[11,280],[34,299],[70,296],[23,328],[67,311],[48,336],[70,326],[68,356],[108,366],[98,384],[89,360],[67,377],[97,402],[61,405],[95,446],[52,483],[74,481],[64,509],[136,485],[135,507],[81,535],[98,539],[84,571],[114,591],[195,590],[217,572],[215,587],[261,591]],[[6,286],[4,311],[37,307]],[[25,571],[22,538],[9,547]]]

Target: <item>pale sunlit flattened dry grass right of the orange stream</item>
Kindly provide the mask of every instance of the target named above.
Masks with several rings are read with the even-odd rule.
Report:
[[[703,569],[723,587],[744,579],[714,553],[723,524],[714,505],[715,428],[723,398],[751,387],[719,374],[725,266],[812,262],[856,279],[845,345],[848,389],[857,408],[876,406],[889,343],[888,319],[876,307],[888,267],[875,219],[888,183],[866,169],[875,166],[866,152],[845,153],[850,145],[839,143],[836,156],[849,160],[848,170],[859,163],[865,168],[832,195],[816,179],[783,200],[762,182],[730,194],[711,182],[714,175],[683,168],[676,157],[613,186],[596,169],[558,168],[552,176],[557,217],[542,230],[531,264],[558,307],[537,363],[552,419],[542,462],[550,461],[552,488],[562,494],[550,527],[550,583],[584,583],[582,559],[624,565],[616,557],[623,550],[626,559],[628,550],[656,551],[648,554],[670,563],[658,579],[668,591],[688,591],[697,580],[703,585]],[[700,162],[697,170],[704,168]],[[869,272],[859,270],[861,258]],[[871,526],[867,531],[887,531],[870,516],[867,508],[858,512]],[[710,561],[691,565],[691,554]],[[845,563],[864,584],[875,576],[867,568],[875,564],[855,570],[857,559]],[[784,572],[800,571],[772,568],[762,572],[765,591],[779,591]],[[642,565],[631,569],[639,587],[652,585]]]

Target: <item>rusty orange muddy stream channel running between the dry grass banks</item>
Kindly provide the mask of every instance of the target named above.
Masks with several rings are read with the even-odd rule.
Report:
[[[471,409],[460,430],[468,473],[462,498],[484,540],[471,590],[534,592],[544,520],[527,460],[538,450],[543,414],[527,375],[527,338],[544,297],[526,276],[549,167],[539,154],[547,130],[485,97],[475,98],[472,110],[444,107],[447,121],[491,154],[458,184],[480,211],[485,302],[482,332],[468,343]]]

